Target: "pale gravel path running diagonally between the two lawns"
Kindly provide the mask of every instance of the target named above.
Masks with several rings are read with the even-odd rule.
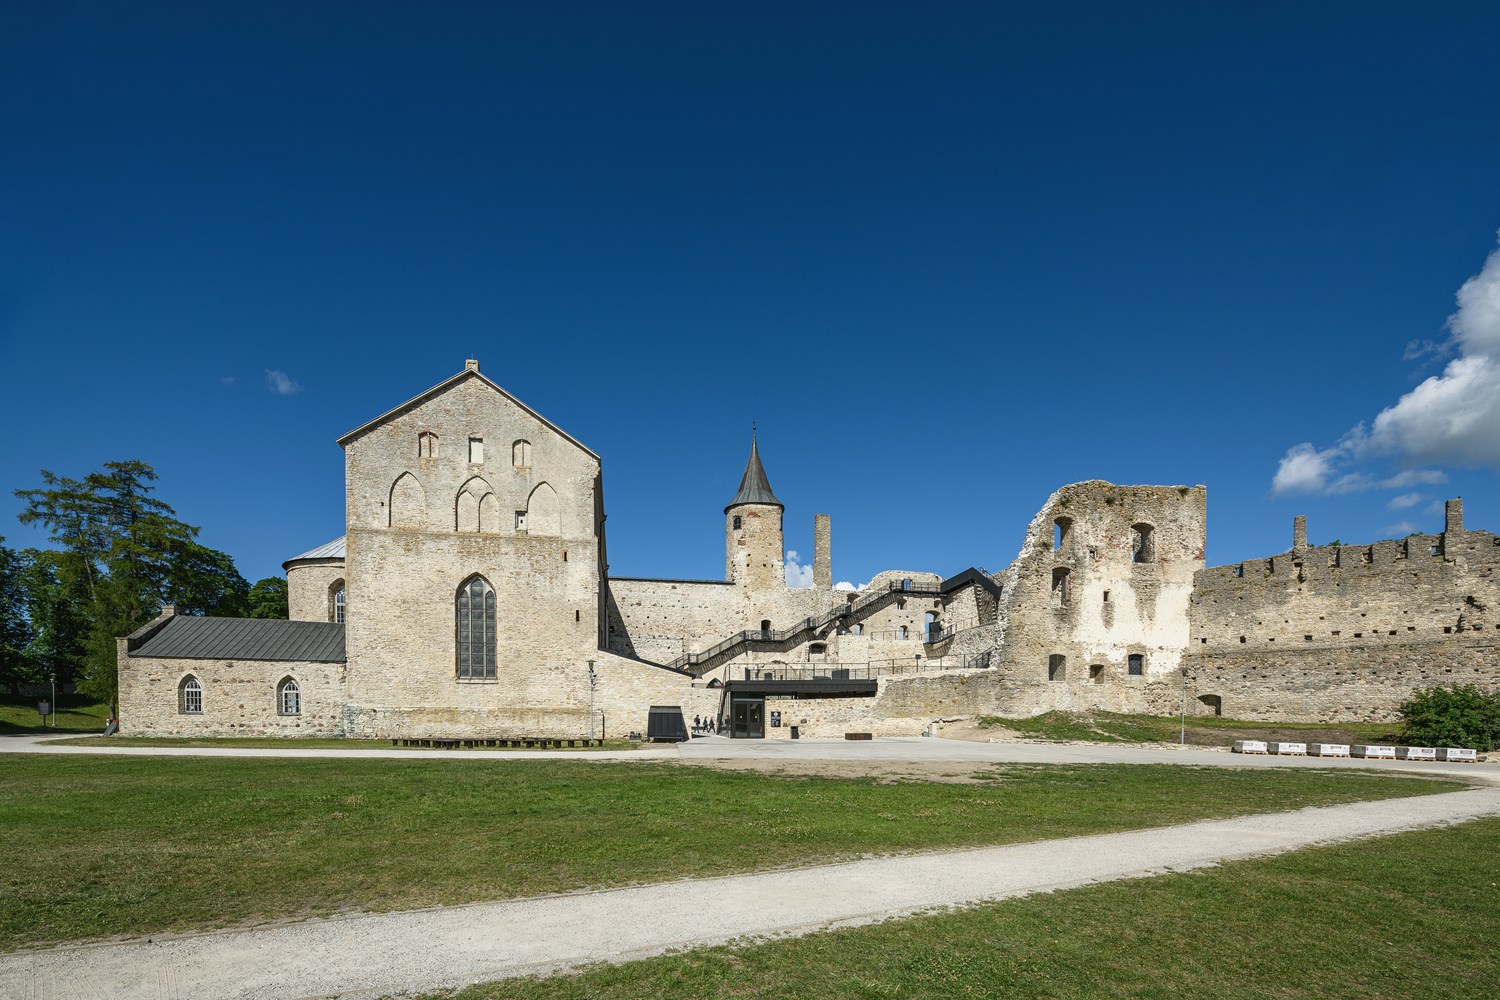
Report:
[[[942,742],[942,741],[927,741]],[[1209,757],[1210,754],[1202,754]],[[1227,757],[1227,754],[1220,754]],[[1488,774],[1468,771],[1476,778]],[[1350,837],[1500,816],[1500,787],[632,889],[0,957],[0,997],[376,997],[798,934]],[[712,900],[712,906],[702,901]]]

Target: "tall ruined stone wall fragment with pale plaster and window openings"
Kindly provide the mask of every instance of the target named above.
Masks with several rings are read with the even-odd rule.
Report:
[[[1152,711],[1152,684],[1188,649],[1206,520],[1202,486],[1094,480],[1053,493],[999,577],[993,666],[1012,681],[1000,714]]]

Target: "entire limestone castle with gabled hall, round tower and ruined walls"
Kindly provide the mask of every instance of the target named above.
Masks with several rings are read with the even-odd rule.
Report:
[[[1500,538],[1308,546],[1204,567],[1202,486],[1053,493],[1004,571],[788,588],[752,439],[724,579],[610,576],[600,457],[470,361],[339,438],[345,534],[285,564],[291,621],[162,615],[118,640],[126,735],[585,736],[652,708],[748,738],[916,735],[1098,708],[1390,718],[1500,682]]]

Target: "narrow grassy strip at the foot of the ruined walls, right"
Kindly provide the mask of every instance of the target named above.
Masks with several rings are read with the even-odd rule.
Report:
[[[1119,715],[1114,712],[1047,712],[1034,718],[984,717],[984,726],[1012,729],[1032,739],[1098,742],[1168,742],[1182,736],[1180,717]],[[1198,747],[1228,747],[1236,739],[1288,739],[1293,742],[1394,742],[1400,723],[1262,723],[1190,715],[1186,742]]]

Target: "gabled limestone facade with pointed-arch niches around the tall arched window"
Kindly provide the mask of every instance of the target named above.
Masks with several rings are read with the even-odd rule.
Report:
[[[477,372],[440,390],[340,441],[346,724],[436,736],[580,711],[586,723],[576,675],[598,645],[598,459]],[[456,676],[454,600],[474,574],[500,612],[494,679]]]

